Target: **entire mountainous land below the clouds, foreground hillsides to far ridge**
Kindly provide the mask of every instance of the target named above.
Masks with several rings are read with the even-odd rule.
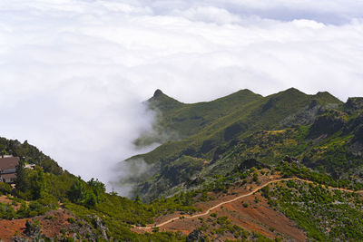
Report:
[[[155,130],[135,143],[162,145],[128,160],[152,168],[132,199],[0,138],[20,157],[15,186],[0,183],[1,240],[363,239],[363,98],[242,90],[191,104],[158,90],[146,103]]]

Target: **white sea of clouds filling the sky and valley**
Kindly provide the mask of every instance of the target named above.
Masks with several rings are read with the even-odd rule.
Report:
[[[0,1],[0,136],[84,179],[152,149],[132,140],[158,88],[201,102],[289,87],[362,96],[363,1]]]

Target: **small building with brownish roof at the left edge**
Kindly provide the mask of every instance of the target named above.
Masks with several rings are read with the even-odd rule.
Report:
[[[16,179],[16,166],[20,158],[13,156],[0,157],[0,181],[14,183]]]

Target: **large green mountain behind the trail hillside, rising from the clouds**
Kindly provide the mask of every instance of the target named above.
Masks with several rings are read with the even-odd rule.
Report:
[[[346,178],[363,164],[361,100],[343,103],[329,92],[309,95],[291,88],[266,97],[241,90],[212,102],[186,104],[157,90],[147,101],[157,113],[155,131],[137,143],[156,140],[162,145],[130,159],[153,165],[134,193],[146,200],[170,196],[189,188],[193,179],[226,175],[241,160],[275,165],[286,156]]]

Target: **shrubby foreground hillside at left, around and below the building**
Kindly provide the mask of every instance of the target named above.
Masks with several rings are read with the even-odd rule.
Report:
[[[0,182],[1,241],[185,240],[172,233],[131,231],[132,225],[151,223],[168,210],[192,210],[181,205],[183,200],[142,204],[106,193],[98,179],[75,177],[27,141],[0,138],[0,151],[20,157],[15,186]],[[25,169],[27,163],[36,166]]]

